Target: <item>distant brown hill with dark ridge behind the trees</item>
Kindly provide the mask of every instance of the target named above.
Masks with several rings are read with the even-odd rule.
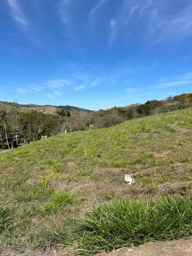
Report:
[[[7,101],[0,101],[0,109],[3,107],[7,107],[7,108],[11,108],[11,102],[7,102]],[[30,110],[36,110],[39,112],[43,112],[44,114],[51,114],[54,115],[56,112],[57,108],[65,108],[65,109],[75,109],[75,110],[82,110],[82,111],[91,111],[88,109],[83,109],[83,108],[78,108],[78,107],[73,107],[73,106],[52,106],[52,105],[36,105],[33,103],[27,104],[27,105],[23,105],[23,104],[19,104],[19,108],[21,108],[21,110],[23,112],[28,112]]]

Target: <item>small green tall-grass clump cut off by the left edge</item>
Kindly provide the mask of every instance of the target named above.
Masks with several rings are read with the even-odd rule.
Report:
[[[11,210],[5,206],[0,206],[0,234],[11,228]]]

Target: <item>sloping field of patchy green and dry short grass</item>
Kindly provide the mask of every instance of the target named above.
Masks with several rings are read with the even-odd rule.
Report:
[[[73,228],[93,204],[190,194],[189,129],[192,108],[58,135],[1,154],[0,205],[14,211],[14,249],[50,243],[53,231]],[[124,183],[125,173],[135,176],[134,186]]]

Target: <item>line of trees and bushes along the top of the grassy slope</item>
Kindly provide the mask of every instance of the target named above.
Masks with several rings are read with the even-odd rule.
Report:
[[[66,130],[75,132],[110,127],[129,119],[190,106],[191,93],[99,111],[58,108],[55,113],[57,115],[43,114],[35,110],[23,113],[20,105],[13,102],[11,108],[5,106],[0,110],[0,148],[12,149],[23,143],[37,141],[45,135],[62,134]]]

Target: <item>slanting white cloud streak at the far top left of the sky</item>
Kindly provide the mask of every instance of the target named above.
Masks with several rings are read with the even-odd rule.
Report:
[[[7,0],[7,3],[10,6],[13,19],[22,27],[27,27],[29,22],[26,19],[25,14],[22,12],[18,2],[16,0]]]

